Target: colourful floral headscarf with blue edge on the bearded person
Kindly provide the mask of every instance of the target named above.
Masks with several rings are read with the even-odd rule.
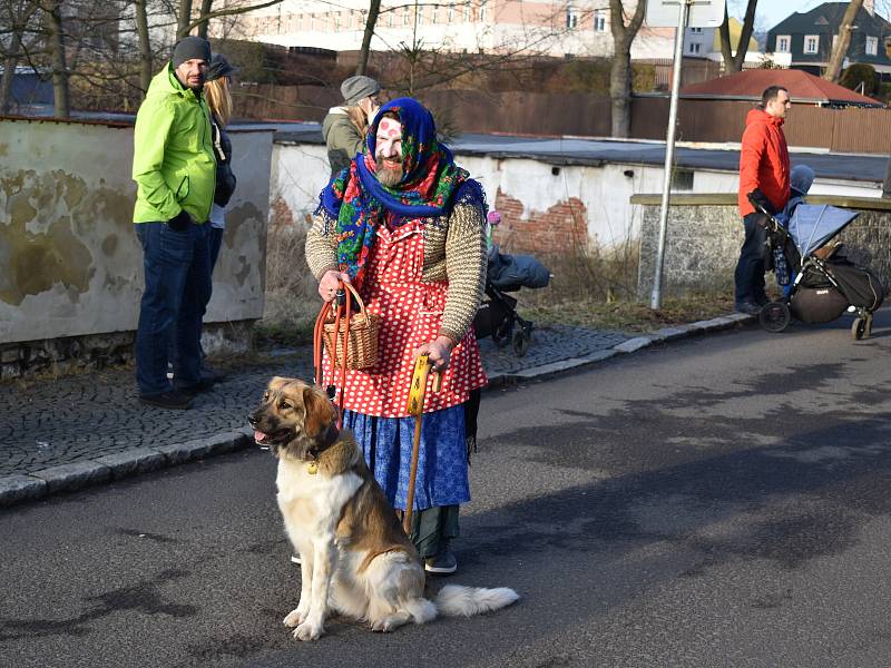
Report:
[[[374,161],[378,125],[388,111],[402,124],[403,176],[392,187],[378,180]],[[417,100],[399,98],[381,107],[369,128],[365,150],[322,190],[319,210],[336,218],[337,264],[361,284],[375,230],[385,219],[399,226],[415,218],[444,216],[459,198],[484,207],[480,185],[437,140],[430,111]]]

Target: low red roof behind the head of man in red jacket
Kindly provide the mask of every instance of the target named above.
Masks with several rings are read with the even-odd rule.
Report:
[[[768,86],[782,86],[789,90],[793,102],[822,102],[884,106],[879,100],[849,90],[796,69],[751,69],[719,77],[701,84],[691,84],[681,89],[682,98],[761,100]]]

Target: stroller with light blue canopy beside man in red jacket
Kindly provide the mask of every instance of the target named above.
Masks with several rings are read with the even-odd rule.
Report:
[[[765,216],[765,267],[774,271],[781,286],[792,284],[784,298],[761,310],[762,327],[782,332],[792,317],[803,323],[828,323],[851,310],[858,314],[851,335],[856,341],[869,338],[872,314],[882,305],[885,286],[869,268],[851,262],[840,243],[831,243],[859,214],[834,206],[800,204],[786,227],[758,203],[752,204]]]

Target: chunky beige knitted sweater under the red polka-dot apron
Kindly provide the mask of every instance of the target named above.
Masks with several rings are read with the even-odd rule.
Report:
[[[337,268],[337,222],[324,210],[313,218],[306,235],[306,263],[316,279]],[[480,207],[458,204],[450,216],[428,218],[423,227],[423,282],[448,281],[440,335],[463,338],[486,286],[486,238]]]

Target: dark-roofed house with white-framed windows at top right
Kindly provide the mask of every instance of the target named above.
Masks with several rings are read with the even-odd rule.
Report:
[[[777,65],[820,75],[829,65],[848,4],[824,2],[810,11],[793,13],[767,32],[765,50]],[[844,67],[865,62],[877,72],[891,73],[890,43],[891,23],[875,13],[874,0],[864,0],[851,31]]]

